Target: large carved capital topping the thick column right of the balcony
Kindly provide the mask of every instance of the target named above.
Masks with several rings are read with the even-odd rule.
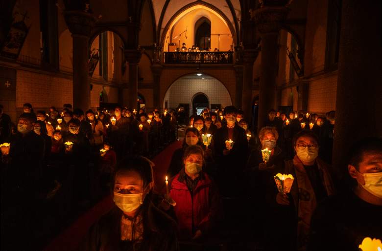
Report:
[[[287,19],[287,7],[263,7],[255,10],[251,18],[256,22],[260,33],[279,32]]]

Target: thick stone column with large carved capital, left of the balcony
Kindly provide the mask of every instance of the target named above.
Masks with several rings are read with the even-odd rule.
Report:
[[[73,38],[73,107],[84,112],[90,108],[89,37],[95,17],[84,11],[64,11]]]

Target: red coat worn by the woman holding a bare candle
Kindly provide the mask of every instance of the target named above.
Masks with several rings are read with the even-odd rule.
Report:
[[[176,202],[180,239],[185,240],[191,239],[196,230],[208,233],[220,218],[222,207],[217,186],[207,173],[203,172],[192,197],[183,175],[184,169],[172,179],[170,195]]]

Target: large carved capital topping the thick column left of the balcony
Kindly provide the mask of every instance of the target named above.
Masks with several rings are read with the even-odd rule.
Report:
[[[90,37],[92,29],[97,20],[92,14],[84,11],[64,11],[64,17],[69,31],[73,35]]]

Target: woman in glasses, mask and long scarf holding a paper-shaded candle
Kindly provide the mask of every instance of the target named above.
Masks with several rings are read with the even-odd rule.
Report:
[[[296,155],[285,162],[282,173],[292,174],[294,181],[290,193],[278,192],[276,202],[290,235],[277,236],[295,240],[290,250],[306,250],[310,232],[310,219],[317,204],[334,195],[335,189],[328,165],[318,158],[319,139],[310,130],[303,130],[293,138]],[[297,222],[291,219],[299,219]],[[288,242],[290,243],[290,242]]]

